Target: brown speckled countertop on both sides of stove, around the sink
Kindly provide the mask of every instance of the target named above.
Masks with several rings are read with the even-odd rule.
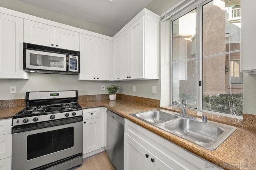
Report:
[[[253,131],[238,128],[218,149],[210,151],[130,115],[130,113],[158,109],[158,107],[125,100],[92,100],[79,102],[79,104],[83,109],[104,106],[223,169],[256,169],[256,133]],[[0,119],[11,118],[12,115],[23,108],[24,107],[0,108]]]

